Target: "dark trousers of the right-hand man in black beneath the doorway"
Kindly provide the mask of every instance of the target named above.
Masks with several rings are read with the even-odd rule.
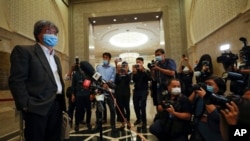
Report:
[[[147,122],[146,116],[146,102],[147,102],[148,91],[134,91],[133,103],[135,109],[135,115],[137,120]]]

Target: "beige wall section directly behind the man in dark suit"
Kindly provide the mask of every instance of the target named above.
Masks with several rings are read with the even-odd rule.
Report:
[[[59,27],[59,44],[55,50],[61,59],[63,73],[69,70],[68,7],[61,0],[0,0],[0,19],[1,84],[7,83],[10,52],[17,44],[35,43],[33,25],[40,19],[50,20]],[[1,100],[9,98],[12,98],[9,90],[0,90]],[[4,127],[0,129],[1,140],[1,136],[19,129],[14,102],[0,101],[0,115],[0,125]]]

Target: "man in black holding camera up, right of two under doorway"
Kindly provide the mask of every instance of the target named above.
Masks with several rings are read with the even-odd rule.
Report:
[[[132,66],[132,79],[134,82],[133,103],[137,120],[134,125],[140,124],[142,128],[147,126],[146,101],[148,96],[148,81],[150,80],[150,72],[143,67],[144,59],[136,58],[136,65]]]

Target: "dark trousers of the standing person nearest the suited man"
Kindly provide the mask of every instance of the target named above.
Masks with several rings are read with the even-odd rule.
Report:
[[[75,112],[75,125],[79,125],[83,119],[86,110],[86,123],[90,123],[91,119],[91,101],[89,95],[76,96],[76,112]]]

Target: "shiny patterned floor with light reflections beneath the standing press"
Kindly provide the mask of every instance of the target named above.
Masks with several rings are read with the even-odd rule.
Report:
[[[132,97],[132,96],[131,96]],[[152,135],[148,128],[153,123],[155,116],[155,107],[153,101],[149,95],[147,98],[147,128],[142,129],[141,125],[134,126],[132,123],[136,121],[136,116],[133,107],[132,98],[130,100],[130,113],[131,113],[131,129],[119,129],[117,132],[112,132],[109,123],[103,124],[102,134],[99,131],[95,132],[94,129],[88,130],[86,124],[80,125],[78,132],[74,131],[74,125],[71,129],[70,141],[157,141],[154,135]],[[107,107],[108,121],[109,121],[109,108]],[[95,108],[92,109],[91,123],[95,122]],[[93,128],[95,125],[92,125]],[[116,124],[116,127],[120,127],[120,123]]]

